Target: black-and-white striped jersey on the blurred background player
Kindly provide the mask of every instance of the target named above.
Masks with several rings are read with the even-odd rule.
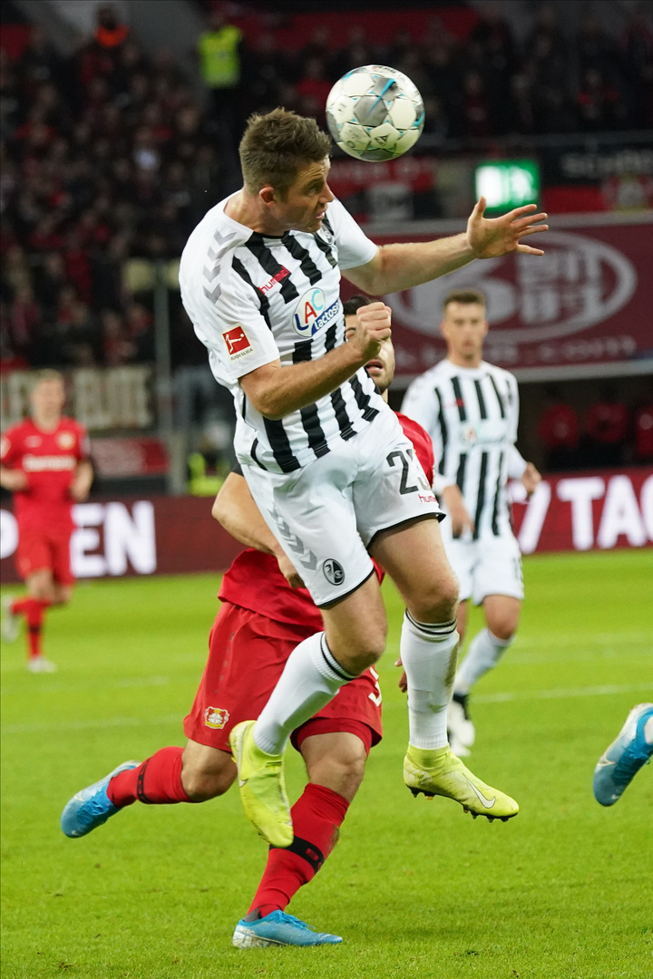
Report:
[[[526,468],[515,447],[519,395],[513,375],[485,361],[468,368],[441,360],[409,386],[401,412],[431,436],[434,489],[440,493],[457,483],[474,520],[474,538],[510,533],[506,484]]]

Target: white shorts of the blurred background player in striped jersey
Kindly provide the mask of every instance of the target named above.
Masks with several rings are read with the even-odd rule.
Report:
[[[504,533],[474,540],[471,531],[453,538],[448,523],[443,522],[443,544],[460,583],[460,601],[472,598],[475,605],[480,605],[488,595],[523,599],[522,555],[516,538]]]

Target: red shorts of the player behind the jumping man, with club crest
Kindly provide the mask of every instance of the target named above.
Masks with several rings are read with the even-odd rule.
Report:
[[[241,721],[258,717],[295,647],[313,629],[274,622],[257,612],[224,602],[209,636],[209,661],[184,732],[192,741],[230,751],[229,733]],[[366,670],[350,680],[314,718],[293,732],[299,750],[311,734],[350,731],[367,751],[378,744],[381,690],[378,676]]]

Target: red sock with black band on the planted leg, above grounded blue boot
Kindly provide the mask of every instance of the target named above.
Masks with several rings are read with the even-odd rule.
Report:
[[[258,909],[264,917],[290,904],[335,847],[349,808],[337,792],[311,782],[306,785],[291,810],[295,839],[285,850],[270,847],[250,912]]]

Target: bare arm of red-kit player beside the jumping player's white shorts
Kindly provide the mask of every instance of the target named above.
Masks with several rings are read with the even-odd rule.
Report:
[[[274,555],[288,582],[293,587],[302,586],[302,579],[260,515],[244,476],[229,473],[215,497],[210,512],[218,524],[221,524],[236,540],[240,540],[247,547],[255,547],[263,554]]]

